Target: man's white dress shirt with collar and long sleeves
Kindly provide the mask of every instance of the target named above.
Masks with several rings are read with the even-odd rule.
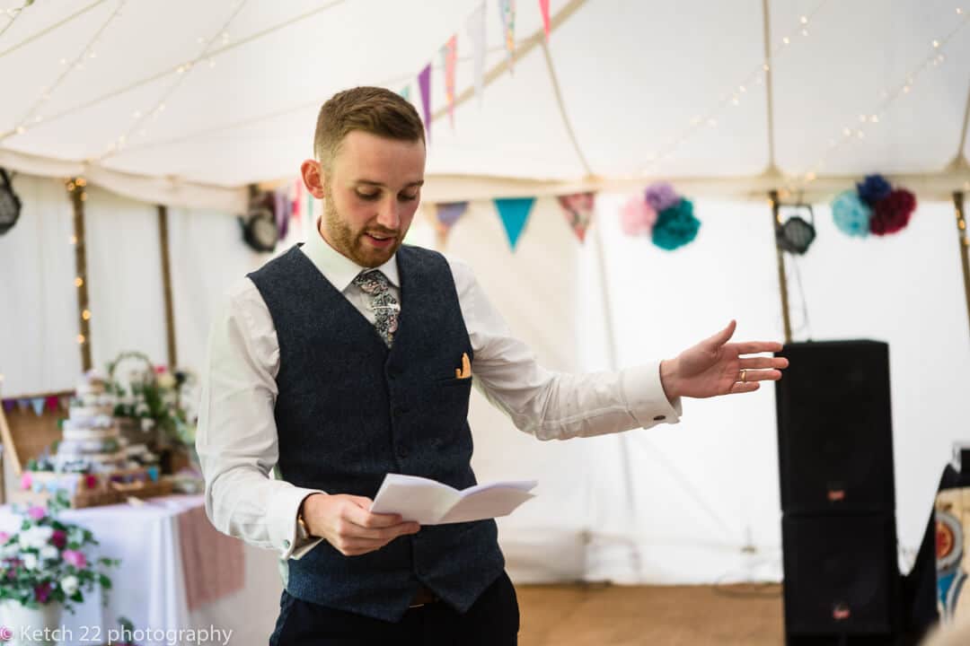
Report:
[[[352,283],[363,267],[319,234],[301,249],[373,323],[370,297]],[[546,370],[511,335],[469,266],[448,263],[474,352],[473,384],[520,430],[539,440],[566,440],[679,421],[680,401],[667,401],[659,361],[619,372]],[[397,257],[378,268],[401,307],[407,307]],[[244,278],[231,288],[212,323],[203,371],[196,446],[206,477],[206,511],[219,531],[297,559],[320,541],[301,537],[296,522],[303,500],[317,492],[272,474],[279,458],[274,417],[278,372],[273,319],[255,284]]]

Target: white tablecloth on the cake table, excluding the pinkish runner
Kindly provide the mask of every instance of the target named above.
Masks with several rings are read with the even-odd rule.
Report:
[[[93,557],[120,559],[108,570],[112,590],[107,605],[102,594],[86,596],[76,614],[64,613],[60,642],[70,646],[108,643],[108,631],[117,630],[117,618],[127,617],[136,630],[148,631],[141,646],[173,644],[265,645],[275,626],[282,583],[276,555],[245,546],[245,585],[242,591],[189,612],[185,598],[178,520],[180,511],[203,504],[202,496],[152,498],[140,507],[67,509],[61,519],[94,533],[100,545]],[[16,531],[17,519],[9,507],[0,507],[0,530]],[[3,618],[0,618],[2,622]],[[198,640],[203,630],[215,629],[209,639]],[[196,632],[189,632],[189,631]],[[181,631],[181,632],[179,632]],[[226,631],[232,631],[228,642]],[[94,639],[100,632],[100,641]],[[153,633],[153,634],[152,634]]]

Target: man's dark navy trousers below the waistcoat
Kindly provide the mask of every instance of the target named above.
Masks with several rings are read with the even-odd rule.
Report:
[[[270,646],[516,646],[519,602],[508,575],[465,614],[443,601],[410,608],[398,623],[299,600],[285,590]]]

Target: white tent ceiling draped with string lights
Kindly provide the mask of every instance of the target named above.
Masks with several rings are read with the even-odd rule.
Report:
[[[458,91],[469,88],[466,21],[479,2],[38,0],[7,29],[0,17],[0,165],[82,171],[129,194],[295,177],[319,105],[339,89],[410,84],[420,109],[415,77],[433,61],[442,108],[438,48],[452,34]],[[22,4],[0,0],[2,9]],[[486,4],[491,69],[504,52],[498,3]],[[436,119],[429,174],[754,178],[770,169],[773,148],[785,174],[936,173],[950,188],[970,179],[962,161],[954,166],[967,153],[970,2],[963,11],[959,0],[768,0],[767,25],[762,0],[550,4],[565,17],[549,41],[564,109],[533,46],[480,105],[456,109],[454,130]],[[541,33],[541,17],[536,0],[517,5],[521,47]],[[96,57],[83,56],[99,30]],[[770,78],[760,74],[766,33]],[[210,41],[210,58],[177,71]],[[73,68],[79,56],[82,69]],[[162,101],[157,116],[139,120]],[[124,134],[124,148],[103,156]]]

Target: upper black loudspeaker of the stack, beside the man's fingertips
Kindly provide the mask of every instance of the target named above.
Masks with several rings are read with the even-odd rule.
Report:
[[[792,343],[777,382],[782,509],[859,513],[895,509],[889,346]]]

